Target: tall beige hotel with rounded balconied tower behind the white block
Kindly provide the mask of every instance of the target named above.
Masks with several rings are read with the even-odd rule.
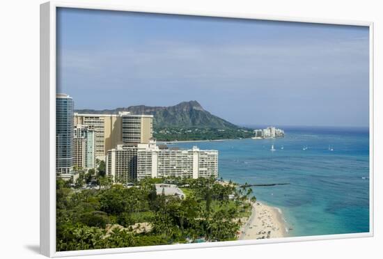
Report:
[[[95,130],[95,157],[104,160],[108,150],[121,143],[148,143],[153,136],[153,115],[74,114],[75,125],[87,125]]]

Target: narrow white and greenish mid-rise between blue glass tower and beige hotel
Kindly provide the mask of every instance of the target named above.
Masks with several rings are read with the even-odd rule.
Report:
[[[74,165],[95,168],[95,130],[91,126],[77,124],[73,135]]]

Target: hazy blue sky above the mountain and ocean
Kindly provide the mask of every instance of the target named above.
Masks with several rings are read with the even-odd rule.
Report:
[[[59,8],[57,91],[75,109],[196,100],[237,125],[368,127],[369,33]]]

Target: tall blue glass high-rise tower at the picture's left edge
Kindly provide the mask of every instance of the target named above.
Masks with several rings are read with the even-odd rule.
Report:
[[[70,173],[73,164],[73,100],[56,95],[56,173]]]

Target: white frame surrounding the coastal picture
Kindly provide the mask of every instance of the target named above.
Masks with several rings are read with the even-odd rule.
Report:
[[[245,19],[266,19],[284,22],[305,22],[320,24],[341,24],[368,26],[370,36],[370,231],[368,233],[316,235],[309,237],[283,237],[271,240],[238,240],[200,244],[171,244],[162,246],[139,246],[116,249],[95,249],[83,251],[56,252],[56,8],[84,8],[95,10],[119,10],[142,13],[163,13],[175,15],[197,15]],[[309,240],[332,240],[352,237],[373,237],[373,22],[343,21],[336,19],[310,19],[280,17],[256,14],[196,12],[188,10],[161,10],[159,8],[136,8],[113,6],[107,3],[68,3],[50,1],[40,5],[40,252],[49,257],[84,256],[105,253],[128,253],[160,251],[171,249],[194,249],[217,246],[239,246],[244,244],[269,244]]]

